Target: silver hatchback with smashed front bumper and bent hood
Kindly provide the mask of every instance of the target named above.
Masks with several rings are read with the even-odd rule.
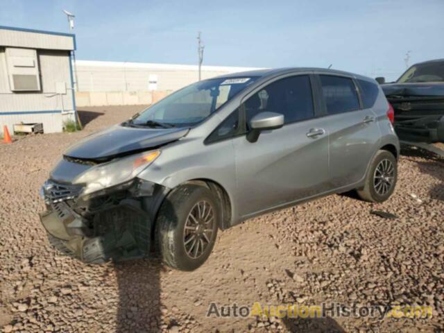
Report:
[[[71,146],[42,187],[51,243],[84,262],[191,271],[219,229],[356,189],[395,189],[393,109],[375,80],[271,69],[203,80]]]

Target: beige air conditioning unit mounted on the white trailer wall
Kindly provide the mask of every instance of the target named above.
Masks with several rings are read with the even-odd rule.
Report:
[[[9,84],[12,92],[40,91],[40,72],[37,51],[7,47]]]

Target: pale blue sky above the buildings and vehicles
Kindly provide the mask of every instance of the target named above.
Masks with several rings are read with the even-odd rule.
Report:
[[[0,0],[0,25],[67,32],[82,60],[328,67],[396,78],[444,58],[443,0]]]

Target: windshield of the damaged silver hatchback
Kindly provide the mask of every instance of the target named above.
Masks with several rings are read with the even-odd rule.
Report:
[[[255,79],[214,78],[194,83],[137,114],[130,124],[151,127],[193,126],[216,112]]]

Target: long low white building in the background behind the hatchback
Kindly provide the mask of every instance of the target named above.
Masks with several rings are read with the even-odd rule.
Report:
[[[202,79],[253,67],[202,66]],[[150,104],[198,80],[197,65],[76,61],[78,106]]]

